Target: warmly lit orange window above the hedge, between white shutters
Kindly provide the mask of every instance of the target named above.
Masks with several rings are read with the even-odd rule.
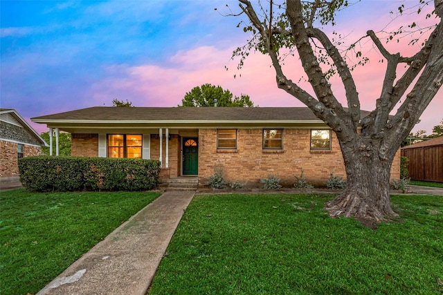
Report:
[[[141,159],[141,135],[113,134],[108,135],[109,158],[138,158]]]

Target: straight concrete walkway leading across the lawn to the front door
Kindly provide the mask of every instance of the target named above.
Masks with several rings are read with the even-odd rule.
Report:
[[[194,194],[163,193],[37,294],[145,295]]]

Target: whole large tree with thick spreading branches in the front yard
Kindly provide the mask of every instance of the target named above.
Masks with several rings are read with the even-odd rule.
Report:
[[[347,1],[287,0],[276,6],[275,1],[271,0],[268,2],[270,6],[264,8],[260,2],[253,5],[248,0],[239,0],[239,7],[250,22],[244,30],[255,35],[248,45],[238,48],[234,55],[246,57],[249,50],[259,50],[269,55],[278,88],[308,106],[338,137],[347,186],[341,195],[325,204],[330,216],[354,216],[359,220],[379,222],[396,215],[389,198],[392,161],[402,140],[413,129],[442,85],[442,2],[435,0],[435,14],[439,17],[439,23],[413,56],[404,57],[400,53],[388,52],[372,30],[367,32],[367,36],[362,36],[371,39],[374,48],[387,62],[386,74],[380,81],[381,93],[374,97],[377,99],[376,107],[370,115],[361,117],[352,65],[347,64],[338,45],[334,44],[334,36],[329,37],[322,29],[335,23],[335,13],[347,6]],[[421,3],[426,4],[424,1]],[[279,8],[282,12],[275,13]],[[300,81],[300,77],[291,80],[285,75],[282,63],[288,66],[289,60],[283,58],[288,51],[299,57],[315,95],[302,89],[300,83],[293,82]],[[359,55],[361,53],[357,53]],[[326,70],[323,61],[334,66]],[[242,62],[243,59],[241,65]],[[403,74],[397,71],[400,65],[406,68]],[[338,102],[329,84],[328,78],[334,73],[341,78],[345,88],[347,108]],[[395,114],[390,115],[391,112]]]

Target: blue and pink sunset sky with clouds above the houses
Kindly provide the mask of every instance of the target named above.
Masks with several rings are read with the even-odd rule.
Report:
[[[206,83],[237,96],[249,95],[258,106],[303,106],[277,88],[269,57],[251,54],[237,70],[232,52],[251,36],[242,25],[236,28],[246,17],[223,16],[229,11],[226,2],[237,9],[236,1],[188,1],[183,6],[180,1],[5,1],[4,5],[2,1],[1,107],[15,108],[30,122],[30,117],[39,115],[111,106],[114,98],[127,99],[134,106],[177,106],[186,92]],[[396,30],[413,21],[424,27],[438,21],[435,17],[422,21],[433,10],[432,1],[419,15],[415,9],[392,20],[390,11],[416,3],[363,1],[344,10],[334,30],[350,44],[367,30]],[[35,17],[27,18],[29,11]],[[408,46],[408,40],[386,46],[391,53],[410,56],[419,46]],[[361,108],[370,111],[381,91],[386,61],[380,62],[383,57],[369,38],[359,46],[370,61],[353,75]],[[287,59],[284,70],[294,82],[303,75],[296,58]],[[403,66],[399,75],[401,70]],[[336,97],[345,103],[341,83],[336,78],[331,83]],[[300,85],[312,93],[305,82]],[[431,134],[443,120],[442,110],[440,90],[413,131]],[[31,125],[39,133],[46,131],[44,125]]]

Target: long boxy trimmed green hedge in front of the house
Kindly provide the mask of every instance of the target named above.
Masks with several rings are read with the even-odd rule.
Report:
[[[160,161],[37,156],[19,159],[30,191],[143,191],[159,184]]]

